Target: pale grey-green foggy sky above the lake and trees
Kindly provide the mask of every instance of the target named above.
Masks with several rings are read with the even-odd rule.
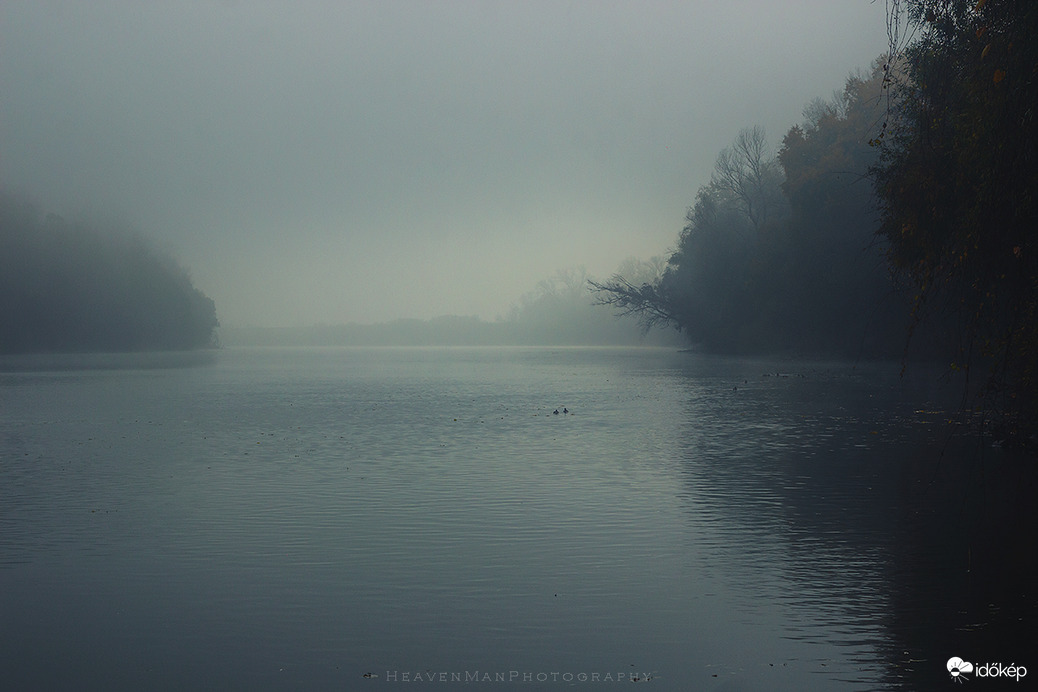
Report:
[[[477,314],[672,248],[880,0],[3,0],[0,185],[158,240],[224,325]]]

